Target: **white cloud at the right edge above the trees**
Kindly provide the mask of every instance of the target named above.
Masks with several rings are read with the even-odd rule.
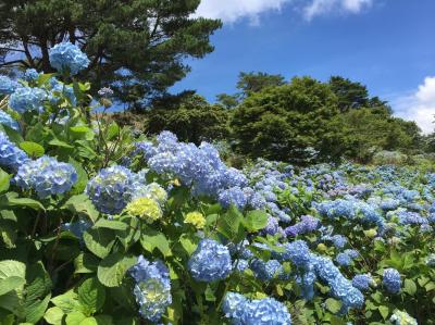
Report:
[[[435,76],[426,77],[412,95],[391,100],[395,115],[415,121],[424,134],[435,128]]]

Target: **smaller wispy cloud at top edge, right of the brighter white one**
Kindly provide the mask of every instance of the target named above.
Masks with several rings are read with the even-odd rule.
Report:
[[[359,13],[371,7],[373,0],[310,0],[302,9],[303,16],[311,21],[315,16],[330,13]]]

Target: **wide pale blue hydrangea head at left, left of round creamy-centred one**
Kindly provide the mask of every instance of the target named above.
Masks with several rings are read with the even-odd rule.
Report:
[[[77,172],[71,164],[45,155],[21,165],[14,180],[21,188],[34,189],[39,198],[47,198],[69,191],[77,182]]]

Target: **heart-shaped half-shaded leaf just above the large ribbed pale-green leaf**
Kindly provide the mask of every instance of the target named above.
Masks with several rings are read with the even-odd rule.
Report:
[[[113,243],[115,241],[115,235],[112,229],[87,229],[83,234],[83,240],[88,250],[100,259],[104,259],[110,254]]]

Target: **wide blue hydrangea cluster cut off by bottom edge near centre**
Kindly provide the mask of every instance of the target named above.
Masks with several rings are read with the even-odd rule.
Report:
[[[233,324],[291,325],[287,308],[273,298],[249,300],[243,295],[228,292],[222,308]]]

